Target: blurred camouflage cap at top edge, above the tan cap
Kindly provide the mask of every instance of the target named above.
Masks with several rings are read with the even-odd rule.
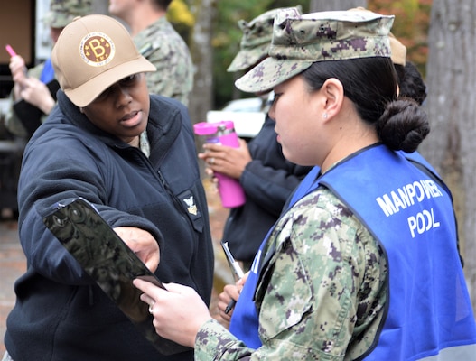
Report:
[[[91,0],[51,0],[50,12],[43,18],[43,23],[51,28],[64,28],[75,17],[91,13]]]

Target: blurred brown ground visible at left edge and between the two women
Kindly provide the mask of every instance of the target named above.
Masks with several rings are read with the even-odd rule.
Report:
[[[227,261],[219,246],[223,224],[228,216],[228,209],[221,208],[217,194],[206,180],[205,189],[209,199],[210,227],[215,245],[215,288],[210,304],[211,313],[216,310],[216,296],[223,284],[232,282]],[[25,271],[25,258],[18,241],[18,227],[14,219],[5,214],[0,219],[0,356],[5,352],[5,319],[14,307],[14,281]],[[6,219],[5,219],[6,218]]]

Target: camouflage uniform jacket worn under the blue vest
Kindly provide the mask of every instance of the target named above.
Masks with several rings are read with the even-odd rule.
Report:
[[[278,221],[275,254],[257,284],[259,336],[247,348],[217,321],[202,325],[196,359],[350,360],[369,350],[384,316],[387,260],[378,242],[320,187]]]

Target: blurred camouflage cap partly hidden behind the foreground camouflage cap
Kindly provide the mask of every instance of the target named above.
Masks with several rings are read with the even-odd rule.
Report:
[[[275,16],[280,11],[285,11],[287,8],[278,8],[269,10],[257,16],[255,19],[247,23],[245,20],[240,20],[238,26],[243,32],[241,37],[240,49],[235,59],[229,64],[228,72],[245,70],[253,67],[259,60],[266,58],[271,39],[273,38],[273,23]],[[294,8],[301,14],[301,5]]]

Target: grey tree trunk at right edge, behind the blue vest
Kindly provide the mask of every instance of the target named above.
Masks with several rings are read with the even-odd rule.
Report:
[[[434,0],[428,37],[431,133],[421,153],[453,192],[460,248],[471,301],[476,304],[476,37],[473,0]],[[444,266],[442,264],[441,266]]]

